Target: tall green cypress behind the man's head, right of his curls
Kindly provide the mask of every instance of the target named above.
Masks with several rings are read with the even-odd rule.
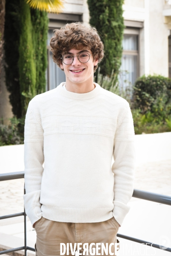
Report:
[[[99,65],[100,73],[103,76],[111,76],[113,73],[117,81],[122,57],[123,0],[87,0],[87,3],[90,25],[96,27],[104,43],[104,59]]]

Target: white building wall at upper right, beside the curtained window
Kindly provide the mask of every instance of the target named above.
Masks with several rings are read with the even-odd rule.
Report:
[[[170,23],[166,23],[163,9],[164,0],[125,0],[123,17],[125,20],[143,21],[140,29],[140,76],[168,76],[168,33]]]

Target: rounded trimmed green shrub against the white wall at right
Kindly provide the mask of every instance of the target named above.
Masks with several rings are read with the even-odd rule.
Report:
[[[142,76],[134,87],[134,108],[142,114],[153,113],[165,121],[171,114],[171,79],[163,76]]]

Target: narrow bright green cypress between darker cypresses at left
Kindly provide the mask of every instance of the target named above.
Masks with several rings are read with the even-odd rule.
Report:
[[[22,115],[26,112],[26,96],[23,92],[35,94],[36,64],[34,59],[34,46],[32,43],[32,21],[29,5],[25,0],[20,0],[20,45],[19,45],[19,78]]]

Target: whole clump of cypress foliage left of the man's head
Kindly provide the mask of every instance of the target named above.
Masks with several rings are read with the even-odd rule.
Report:
[[[46,90],[47,32],[46,12],[30,9],[25,0],[6,0],[6,86],[17,118],[32,96]]]

